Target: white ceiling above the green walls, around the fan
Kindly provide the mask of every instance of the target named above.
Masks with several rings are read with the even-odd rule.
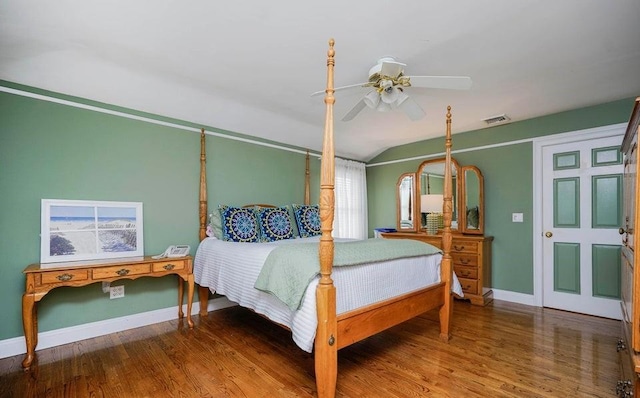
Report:
[[[468,91],[409,88],[427,112],[364,109],[336,93],[338,155],[640,95],[638,0],[0,0],[0,79],[320,151],[329,38],[335,85],[378,58]]]

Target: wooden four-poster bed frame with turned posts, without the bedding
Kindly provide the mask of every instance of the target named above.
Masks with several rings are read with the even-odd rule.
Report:
[[[333,397],[335,395],[337,382],[337,351],[340,348],[365,339],[389,327],[395,326],[401,322],[411,319],[424,312],[439,309],[440,317],[440,339],[448,341],[450,338],[450,322],[452,316],[452,297],[451,291],[454,282],[451,263],[451,219],[452,219],[452,180],[450,169],[451,158],[451,113],[450,108],[447,112],[446,120],[446,168],[445,168],[445,185],[444,185],[444,232],[442,255],[437,257],[438,267],[434,268],[437,279],[434,283],[421,286],[420,288],[402,292],[393,297],[385,298],[379,301],[368,303],[358,308],[350,308],[344,312],[336,310],[336,286],[334,284],[334,276],[336,278],[346,274],[344,268],[334,268],[334,255],[336,245],[332,237],[332,224],[334,217],[334,141],[333,141],[333,104],[334,88],[333,88],[333,70],[334,70],[334,41],[329,41],[329,50],[327,57],[327,87],[324,102],[326,104],[326,118],[324,128],[324,140],[322,149],[322,163],[320,175],[320,200],[319,200],[319,216],[321,235],[319,241],[316,241],[319,255],[319,278],[316,283],[310,284],[309,290],[313,287],[315,290],[315,302],[313,302],[314,294],[308,294],[305,297],[312,300],[313,312],[317,318],[315,326],[315,338],[312,342],[313,353],[315,358],[316,385],[319,397]],[[203,261],[198,261],[201,254],[201,248],[205,241],[208,244],[224,245],[229,242],[213,242],[206,238],[207,227],[207,185],[206,185],[206,154],[205,154],[205,134],[201,134],[201,154],[200,154],[200,239],[203,241],[196,255],[196,282],[200,285],[200,315],[207,314],[207,301],[210,288],[203,282]],[[305,204],[309,204],[309,166],[307,154],[307,167],[305,174]],[[259,245],[245,244],[242,245]],[[338,243],[339,245],[340,243]],[[426,246],[426,245],[425,245]],[[245,246],[246,247],[246,246]],[[205,252],[202,249],[202,252]],[[215,257],[215,255],[211,255]],[[440,254],[438,254],[440,256]],[[404,261],[398,260],[398,261]],[[200,263],[200,265],[198,265]],[[335,264],[338,265],[338,264]],[[368,264],[365,264],[365,266]],[[405,268],[394,266],[396,273],[398,269],[405,272]],[[354,267],[355,268],[355,267]],[[408,269],[408,268],[407,268]],[[217,272],[217,271],[216,271]],[[337,280],[336,280],[337,281]],[[202,284],[205,283],[205,286]],[[381,282],[384,283],[384,282]],[[214,290],[213,288],[211,289]],[[254,289],[255,290],[255,289]],[[219,291],[220,292],[220,291]],[[220,292],[221,294],[224,294]],[[250,293],[251,294],[251,293]],[[311,297],[309,297],[311,296]],[[340,297],[342,299],[342,297]],[[242,303],[241,303],[242,305]],[[250,308],[253,308],[250,306]],[[257,311],[258,312],[258,311]],[[273,320],[273,319],[272,319]],[[281,323],[278,320],[274,320]],[[285,327],[287,325],[283,323]],[[293,328],[292,328],[293,329]]]

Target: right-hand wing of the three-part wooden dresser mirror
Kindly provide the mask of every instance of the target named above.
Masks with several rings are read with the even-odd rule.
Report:
[[[461,229],[465,234],[484,233],[484,178],[482,172],[476,166],[463,166],[461,168],[461,183],[464,189],[461,192],[461,202],[464,203],[464,212],[460,213]]]

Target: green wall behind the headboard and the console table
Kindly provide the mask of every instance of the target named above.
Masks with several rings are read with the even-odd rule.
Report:
[[[4,87],[69,99],[0,83]],[[145,254],[161,253],[170,244],[189,244],[195,255],[198,132],[6,92],[0,92],[0,121],[0,234],[4,237],[0,240],[3,303],[0,340],[23,335],[22,271],[40,258],[43,198],[142,202]],[[209,126],[193,127],[215,131]],[[210,209],[219,203],[301,203],[304,165],[301,153],[208,136]],[[312,201],[319,192],[318,169],[319,162],[312,161]],[[53,290],[38,305],[39,331],[173,307],[177,303],[177,282],[172,277],[114,282],[118,284],[125,285],[126,294],[117,300],[109,300],[100,284]]]

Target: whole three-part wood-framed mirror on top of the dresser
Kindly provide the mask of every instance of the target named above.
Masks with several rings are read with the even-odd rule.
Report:
[[[435,234],[443,227],[444,158],[425,160],[416,173],[400,176],[396,189],[398,231]],[[451,230],[484,233],[484,179],[475,166],[451,159],[453,214]]]

